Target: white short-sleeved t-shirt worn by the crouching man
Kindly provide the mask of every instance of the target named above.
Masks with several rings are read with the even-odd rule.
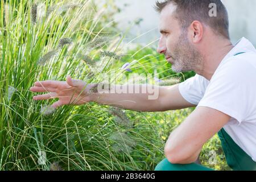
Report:
[[[236,44],[210,81],[196,75],[182,82],[179,91],[197,107],[232,117],[224,126],[226,133],[256,162],[256,49],[249,40],[242,38]]]

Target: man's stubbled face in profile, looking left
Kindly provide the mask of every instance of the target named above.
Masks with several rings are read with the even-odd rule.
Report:
[[[176,73],[195,71],[203,59],[195,46],[189,42],[186,30],[182,30],[179,20],[174,17],[176,7],[164,7],[160,14],[160,33],[158,52],[163,53],[172,70]]]

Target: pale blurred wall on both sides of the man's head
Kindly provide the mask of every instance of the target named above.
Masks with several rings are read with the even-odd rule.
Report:
[[[243,36],[256,46],[256,0],[222,0],[229,13],[230,37],[236,43]],[[121,10],[115,15],[118,27],[126,31],[130,27],[127,39],[144,34],[134,43],[147,45],[159,38],[159,15],[154,10],[155,0],[119,0],[116,5]],[[134,25],[133,25],[134,24]]]

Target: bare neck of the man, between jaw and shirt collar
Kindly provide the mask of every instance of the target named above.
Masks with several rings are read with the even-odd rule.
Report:
[[[223,41],[220,43],[213,43],[214,46],[205,50],[203,53],[203,65],[195,72],[210,81],[214,72],[220,65],[224,57],[234,48],[233,44],[229,41]]]

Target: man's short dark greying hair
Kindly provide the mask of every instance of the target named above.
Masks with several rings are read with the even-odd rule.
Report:
[[[181,23],[181,27],[188,28],[194,20],[207,24],[216,34],[229,38],[228,11],[221,0],[167,0],[156,1],[155,10],[159,13],[172,3],[177,6],[175,16]],[[209,16],[209,5],[214,3],[217,7],[217,16]]]

